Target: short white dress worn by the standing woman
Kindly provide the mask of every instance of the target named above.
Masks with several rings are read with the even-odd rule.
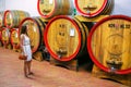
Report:
[[[23,39],[23,53],[25,55],[27,55],[27,60],[26,61],[31,61],[32,60],[32,49],[31,49],[31,42],[29,42],[29,38],[22,34],[21,37],[24,36],[24,39]]]

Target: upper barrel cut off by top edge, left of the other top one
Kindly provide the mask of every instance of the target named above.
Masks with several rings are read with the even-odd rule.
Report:
[[[44,18],[73,13],[72,0],[38,0],[37,10]]]

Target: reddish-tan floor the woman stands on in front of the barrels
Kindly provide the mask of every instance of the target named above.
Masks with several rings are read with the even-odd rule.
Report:
[[[0,87],[127,87],[93,77],[85,71],[75,72],[36,60],[32,64],[34,75],[25,78],[23,61],[17,55],[17,52],[0,47]]]

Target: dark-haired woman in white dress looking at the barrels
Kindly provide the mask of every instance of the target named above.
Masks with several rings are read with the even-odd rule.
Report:
[[[32,50],[31,50],[29,37],[27,35],[27,29],[28,29],[27,26],[22,26],[21,37],[20,37],[22,53],[27,57],[27,59],[24,61],[25,77],[28,77],[28,75],[33,74],[31,72]]]

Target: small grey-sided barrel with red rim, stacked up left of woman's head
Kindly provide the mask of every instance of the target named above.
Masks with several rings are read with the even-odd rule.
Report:
[[[8,28],[19,27],[22,20],[28,17],[29,14],[20,10],[7,10],[4,12],[4,25]]]

